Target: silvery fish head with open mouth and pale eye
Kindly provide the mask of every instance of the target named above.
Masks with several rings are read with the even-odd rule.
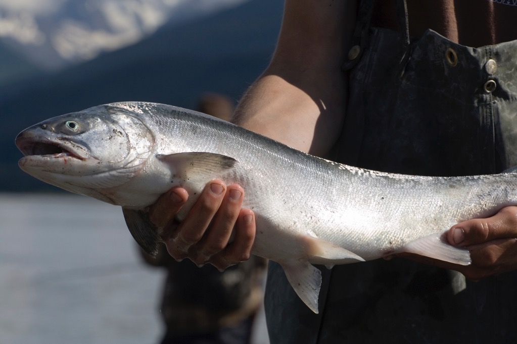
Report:
[[[106,189],[126,183],[145,165],[154,136],[141,118],[111,105],[68,113],[23,130],[19,166],[43,182],[105,202]]]

